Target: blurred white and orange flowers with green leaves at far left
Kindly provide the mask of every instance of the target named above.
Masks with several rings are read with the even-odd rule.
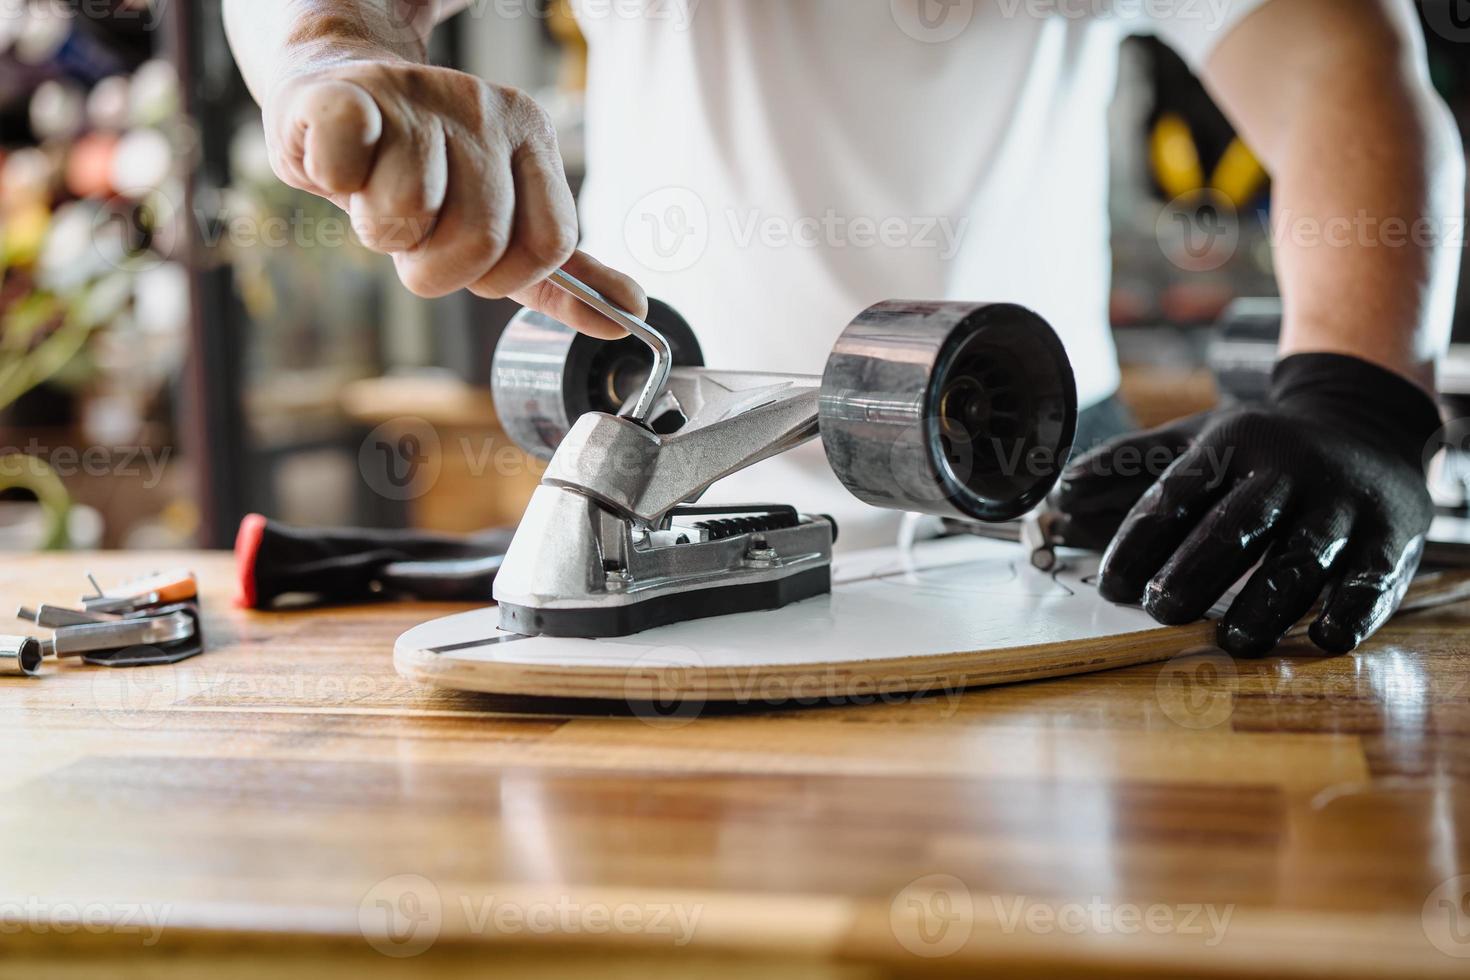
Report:
[[[29,122],[28,140],[18,131],[0,141],[0,414],[49,382],[106,392],[166,383],[178,357],[168,353],[181,347],[185,287],[163,275],[176,270],[182,220],[169,203],[182,197],[194,143],[178,76],[165,60],[116,54],[104,18],[82,21],[22,3],[7,22],[19,40],[0,46],[0,68],[24,69],[6,79]],[[128,411],[109,419],[128,423]],[[93,432],[97,417],[85,423]],[[40,501],[43,547],[66,547],[71,498],[47,460],[0,451],[0,492],[12,489]]]

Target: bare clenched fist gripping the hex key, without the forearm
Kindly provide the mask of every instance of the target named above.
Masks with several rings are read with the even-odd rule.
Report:
[[[337,203],[423,297],[510,297],[594,336],[623,331],[548,284],[559,266],[644,316],[628,276],[576,251],[556,131],[535,101],[391,57],[290,75],[265,100],[276,175]]]

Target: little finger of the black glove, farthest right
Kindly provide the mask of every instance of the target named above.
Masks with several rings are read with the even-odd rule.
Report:
[[[1349,545],[1342,579],[1308,630],[1329,654],[1345,654],[1388,621],[1419,570],[1424,535],[1366,530]]]

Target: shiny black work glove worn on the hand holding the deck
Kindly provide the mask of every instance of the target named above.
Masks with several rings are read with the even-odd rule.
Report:
[[[1433,504],[1423,451],[1433,400],[1342,354],[1276,366],[1266,404],[1113,439],[1072,463],[1054,505],[1069,545],[1107,547],[1098,591],[1160,623],[1202,617],[1261,567],[1219,624],[1258,655],[1327,589],[1311,639],[1347,652],[1394,614],[1423,554]],[[1111,541],[1110,541],[1111,539]]]

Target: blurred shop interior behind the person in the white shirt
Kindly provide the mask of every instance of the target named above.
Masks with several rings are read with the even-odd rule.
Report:
[[[1421,13],[1464,131],[1455,3]],[[413,297],[344,215],[275,179],[218,3],[0,12],[0,550],[228,547],[250,511],[514,523],[538,467],[487,386],[514,306]],[[585,46],[563,1],[475,3],[431,54],[534,93],[575,188]],[[1125,46],[1111,135],[1113,323],[1152,423],[1270,361],[1270,184],[1150,40]],[[420,472],[394,470],[404,454]]]

